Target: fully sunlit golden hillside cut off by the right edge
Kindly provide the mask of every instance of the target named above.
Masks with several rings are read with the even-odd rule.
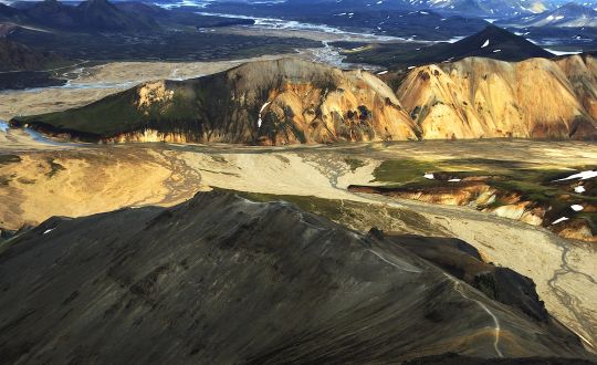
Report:
[[[426,139],[597,136],[591,56],[428,65],[412,70],[397,95]]]

